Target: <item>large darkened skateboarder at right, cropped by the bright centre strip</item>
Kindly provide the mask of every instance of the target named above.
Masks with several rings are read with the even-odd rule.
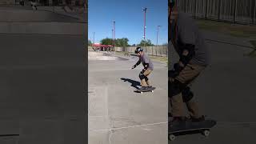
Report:
[[[171,111],[171,123],[184,122],[186,114],[184,103],[193,122],[204,120],[199,114],[198,104],[188,86],[190,82],[209,64],[209,54],[206,43],[199,33],[192,18],[178,10],[174,0],[169,2],[169,42],[179,55],[179,61],[168,71],[168,89]]]

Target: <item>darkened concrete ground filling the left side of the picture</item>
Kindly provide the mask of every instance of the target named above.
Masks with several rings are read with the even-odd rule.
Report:
[[[4,8],[7,16],[10,9]],[[10,20],[19,18],[20,10],[9,14]],[[53,13],[22,12],[26,22],[0,17],[0,143],[86,143],[86,26]],[[33,25],[34,15],[44,22]],[[62,21],[54,23],[61,28],[54,30],[54,21]],[[4,31],[3,23],[20,27]],[[38,33],[42,27],[46,32]]]

